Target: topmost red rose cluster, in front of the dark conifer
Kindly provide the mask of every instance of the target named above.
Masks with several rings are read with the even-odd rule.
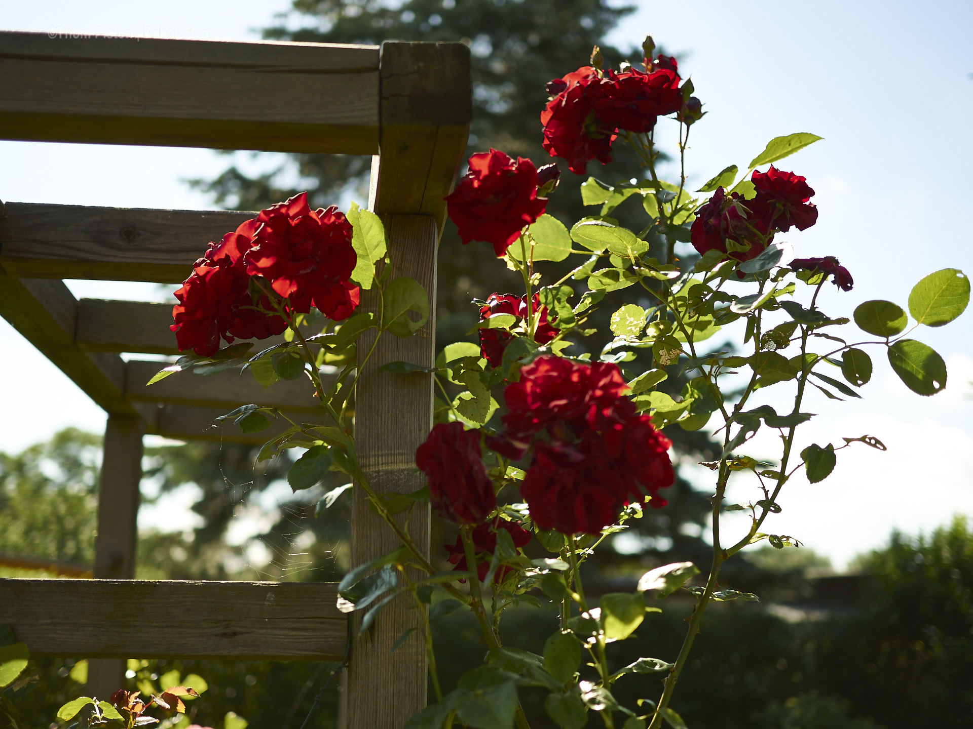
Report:
[[[620,131],[652,131],[658,118],[669,114],[680,114],[684,121],[702,116],[699,99],[684,104],[675,58],[660,55],[654,61],[644,59],[644,64],[644,72],[582,66],[550,82],[551,98],[541,112],[544,149],[566,159],[568,169],[581,175],[592,159],[611,161],[612,142]]]

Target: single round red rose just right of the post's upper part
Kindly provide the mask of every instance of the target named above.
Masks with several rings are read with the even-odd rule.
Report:
[[[537,168],[529,159],[515,162],[502,152],[470,157],[470,171],[446,197],[450,220],[466,245],[482,240],[493,245],[497,257],[544,214],[547,198],[537,196]]]

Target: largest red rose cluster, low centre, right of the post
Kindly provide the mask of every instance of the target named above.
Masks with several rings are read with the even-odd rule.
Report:
[[[504,391],[504,430],[487,445],[511,460],[532,451],[521,494],[538,527],[596,534],[675,478],[669,440],[637,415],[616,364],[540,357]]]

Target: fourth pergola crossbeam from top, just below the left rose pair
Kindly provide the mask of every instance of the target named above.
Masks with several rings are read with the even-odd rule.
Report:
[[[173,402],[186,405],[227,407],[259,402],[298,412],[321,412],[314,386],[306,377],[278,380],[265,389],[249,371],[225,369],[211,375],[177,372],[146,385],[166,363],[132,360],[126,363],[125,396],[136,402]],[[325,377],[325,381],[327,378]]]

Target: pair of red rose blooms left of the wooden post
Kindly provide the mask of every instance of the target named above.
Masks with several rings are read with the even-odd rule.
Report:
[[[233,343],[279,334],[288,323],[257,277],[285,299],[279,304],[288,314],[314,305],[331,319],[346,319],[358,305],[358,287],[349,281],[356,261],[342,213],[334,206],[311,210],[302,192],[209,244],[175,292],[169,329],[180,351],[206,357],[216,354],[221,337]]]

